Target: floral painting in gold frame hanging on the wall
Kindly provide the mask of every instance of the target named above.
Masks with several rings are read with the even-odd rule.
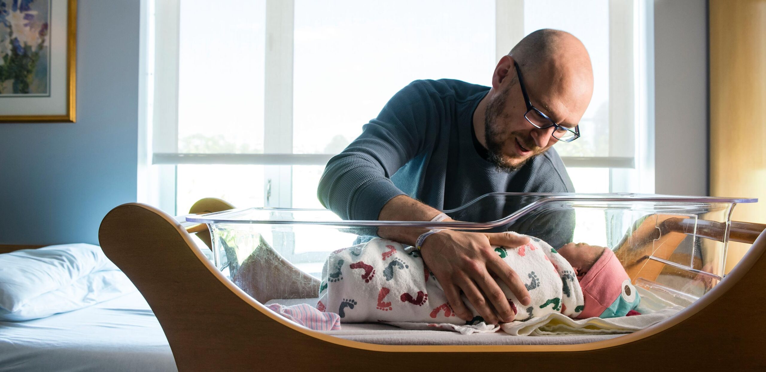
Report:
[[[74,122],[77,0],[0,0],[0,122]]]

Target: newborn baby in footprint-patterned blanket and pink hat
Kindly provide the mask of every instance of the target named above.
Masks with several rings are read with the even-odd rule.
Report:
[[[604,247],[569,243],[557,252],[530,237],[524,246],[493,248],[522,278],[532,298],[523,306],[505,283],[498,282],[516,321],[550,312],[570,318],[612,318],[628,315],[640,302],[619,260]],[[463,302],[473,312],[471,321],[453,313],[420,251],[376,238],[330,254],[322,269],[317,308],[336,312],[345,323],[482,325],[476,308],[464,296]]]

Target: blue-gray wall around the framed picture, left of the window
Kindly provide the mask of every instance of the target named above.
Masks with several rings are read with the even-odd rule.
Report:
[[[78,3],[77,122],[0,123],[0,244],[98,243],[136,201],[140,2]]]

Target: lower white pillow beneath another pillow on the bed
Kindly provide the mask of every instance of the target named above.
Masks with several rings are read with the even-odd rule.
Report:
[[[60,312],[71,312],[135,292],[136,287],[119,270],[97,271],[70,286],[29,299],[14,312],[0,308],[0,321],[28,321]]]

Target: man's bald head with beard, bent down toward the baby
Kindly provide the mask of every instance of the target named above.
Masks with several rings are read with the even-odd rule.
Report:
[[[593,95],[591,58],[578,38],[543,29],[519,41],[495,67],[486,106],[478,114],[491,161],[502,170],[521,167],[558,141],[552,126],[538,129],[526,121],[519,74],[532,106],[569,129],[578,125]]]

